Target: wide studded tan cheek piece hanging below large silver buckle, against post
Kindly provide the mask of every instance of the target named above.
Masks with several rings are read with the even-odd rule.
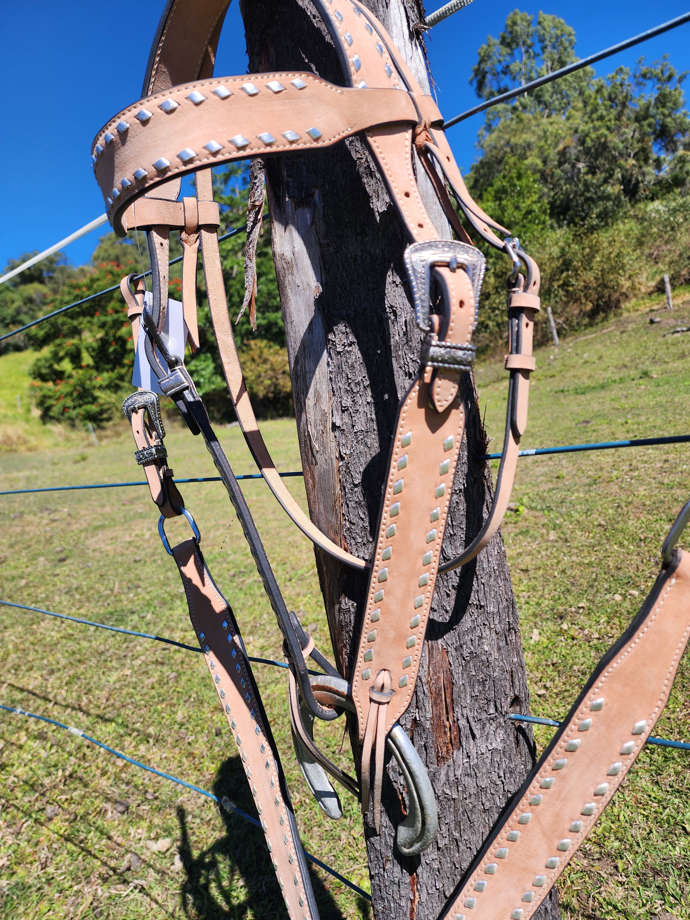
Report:
[[[438,413],[420,379],[398,412],[352,673],[360,742],[376,705],[370,687],[378,673],[390,673],[395,692],[385,711],[386,733],[414,691],[464,426],[463,405],[455,400]]]

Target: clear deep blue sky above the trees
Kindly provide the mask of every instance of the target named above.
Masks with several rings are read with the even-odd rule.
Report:
[[[469,77],[477,49],[498,36],[516,6],[563,17],[577,33],[580,57],[651,29],[687,9],[687,0],[661,4],[640,0],[553,0],[544,6],[515,0],[475,0],[431,30],[431,70],[445,118],[471,108],[477,98]],[[90,167],[90,145],[98,129],[140,98],[144,67],[163,0],[117,3],[70,0],[0,5],[0,269],[7,259],[44,249],[103,213]],[[443,6],[430,2],[428,11]],[[641,54],[664,53],[680,71],[690,69],[690,24],[599,63],[603,75],[633,66]],[[225,20],[216,59],[217,75],[247,70],[244,31],[235,2]],[[688,84],[690,86],[690,84]],[[483,115],[448,132],[463,172],[477,155]],[[75,264],[89,259],[99,228],[65,250]]]

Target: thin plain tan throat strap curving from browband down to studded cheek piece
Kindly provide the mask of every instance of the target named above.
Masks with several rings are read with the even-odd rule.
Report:
[[[197,195],[200,199],[203,201],[213,198],[211,170],[201,170],[197,173],[196,178]],[[257,466],[259,466],[263,477],[266,479],[271,492],[281,503],[283,511],[289,515],[293,523],[297,524],[302,533],[308,536],[316,546],[320,546],[321,549],[325,550],[329,555],[338,558],[341,562],[355,569],[365,569],[367,565],[366,562],[356,556],[352,556],[351,553],[337,546],[329,540],[326,535],[322,534],[315,524],[309,520],[305,512],[302,511],[285,487],[278,470],[275,468],[275,464],[270,457],[268,448],[259,431],[259,423],[254,415],[254,409],[251,406],[251,402],[249,401],[247,385],[245,384],[239,357],[237,355],[235,337],[233,336],[233,329],[227,310],[227,300],[225,298],[218,236],[213,230],[206,227],[201,227],[200,235],[201,254],[203,256],[203,274],[206,282],[206,294],[209,300],[211,320],[213,322],[213,332],[223,364],[225,382],[230,391],[230,397],[233,400],[237,420],[245,435],[249,450]]]

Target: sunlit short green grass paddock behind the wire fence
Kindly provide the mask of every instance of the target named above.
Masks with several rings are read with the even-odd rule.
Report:
[[[523,447],[690,431],[690,334],[668,334],[690,321],[690,308],[657,315],[656,325],[647,312],[621,316],[565,339],[558,350],[539,351]],[[21,368],[27,362],[23,355],[0,359],[5,374],[14,374],[17,392],[26,383]],[[482,362],[477,386],[496,439],[491,450],[500,450],[502,362]],[[16,403],[13,390],[0,407],[0,424],[38,426],[30,417],[10,418]],[[169,428],[177,476],[213,476],[201,439],[174,421]],[[263,429],[280,468],[298,469],[293,421],[267,422]],[[41,442],[43,436],[39,431],[35,443],[20,444],[22,453],[2,455],[0,489],[141,478],[124,424],[98,448],[81,434],[62,442],[55,432],[50,442]],[[255,471],[236,428],[224,429],[222,441],[236,472]],[[689,457],[688,445],[681,444],[521,461],[514,510],[502,533],[535,715],[565,715],[594,663],[637,610],[658,571],[663,536],[690,497]],[[306,507],[301,480],[286,481]],[[217,483],[180,488],[249,653],[280,658],[279,631],[224,489]],[[327,650],[308,541],[263,483],[244,489],[287,604]],[[5,496],[0,520],[3,599],[193,642],[147,489]],[[170,539],[186,527],[169,523]],[[75,725],[252,811],[234,745],[195,654],[10,607],[0,612],[0,703]],[[368,888],[356,802],[341,793],[340,822],[328,822],[317,810],[294,762],[285,674],[262,665],[255,670],[305,848]],[[689,714],[685,659],[655,733],[690,741]],[[540,744],[548,732],[536,730]],[[348,765],[341,730],[324,727],[320,737],[329,755]],[[690,918],[689,757],[651,747],[641,754],[560,882],[564,916]],[[3,917],[284,915],[260,832],[209,799],[74,735],[0,714],[0,782]],[[313,879],[322,920],[368,916],[363,900],[338,881],[320,869]]]

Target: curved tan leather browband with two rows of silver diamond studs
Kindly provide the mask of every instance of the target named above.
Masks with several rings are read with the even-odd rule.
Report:
[[[434,121],[443,121],[431,97],[425,101]],[[414,100],[394,89],[362,93],[308,73],[202,80],[141,99],[111,119],[94,142],[94,172],[113,229],[124,236],[128,203],[173,176],[329,146],[382,122],[419,121]]]

